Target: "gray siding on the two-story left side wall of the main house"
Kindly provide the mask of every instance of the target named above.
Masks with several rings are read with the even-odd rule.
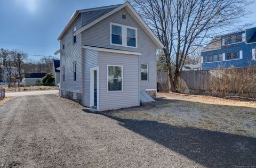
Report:
[[[73,44],[73,27],[76,25],[77,29],[81,28],[81,14],[71,24],[66,34],[61,40],[65,40],[65,49],[60,48],[60,70],[61,70],[61,90],[72,91],[74,93],[81,93],[81,54],[82,54],[82,41],[81,33],[76,35],[76,44]],[[74,81],[73,62],[76,61],[76,81]],[[63,82],[62,67],[65,66],[65,82]]]

